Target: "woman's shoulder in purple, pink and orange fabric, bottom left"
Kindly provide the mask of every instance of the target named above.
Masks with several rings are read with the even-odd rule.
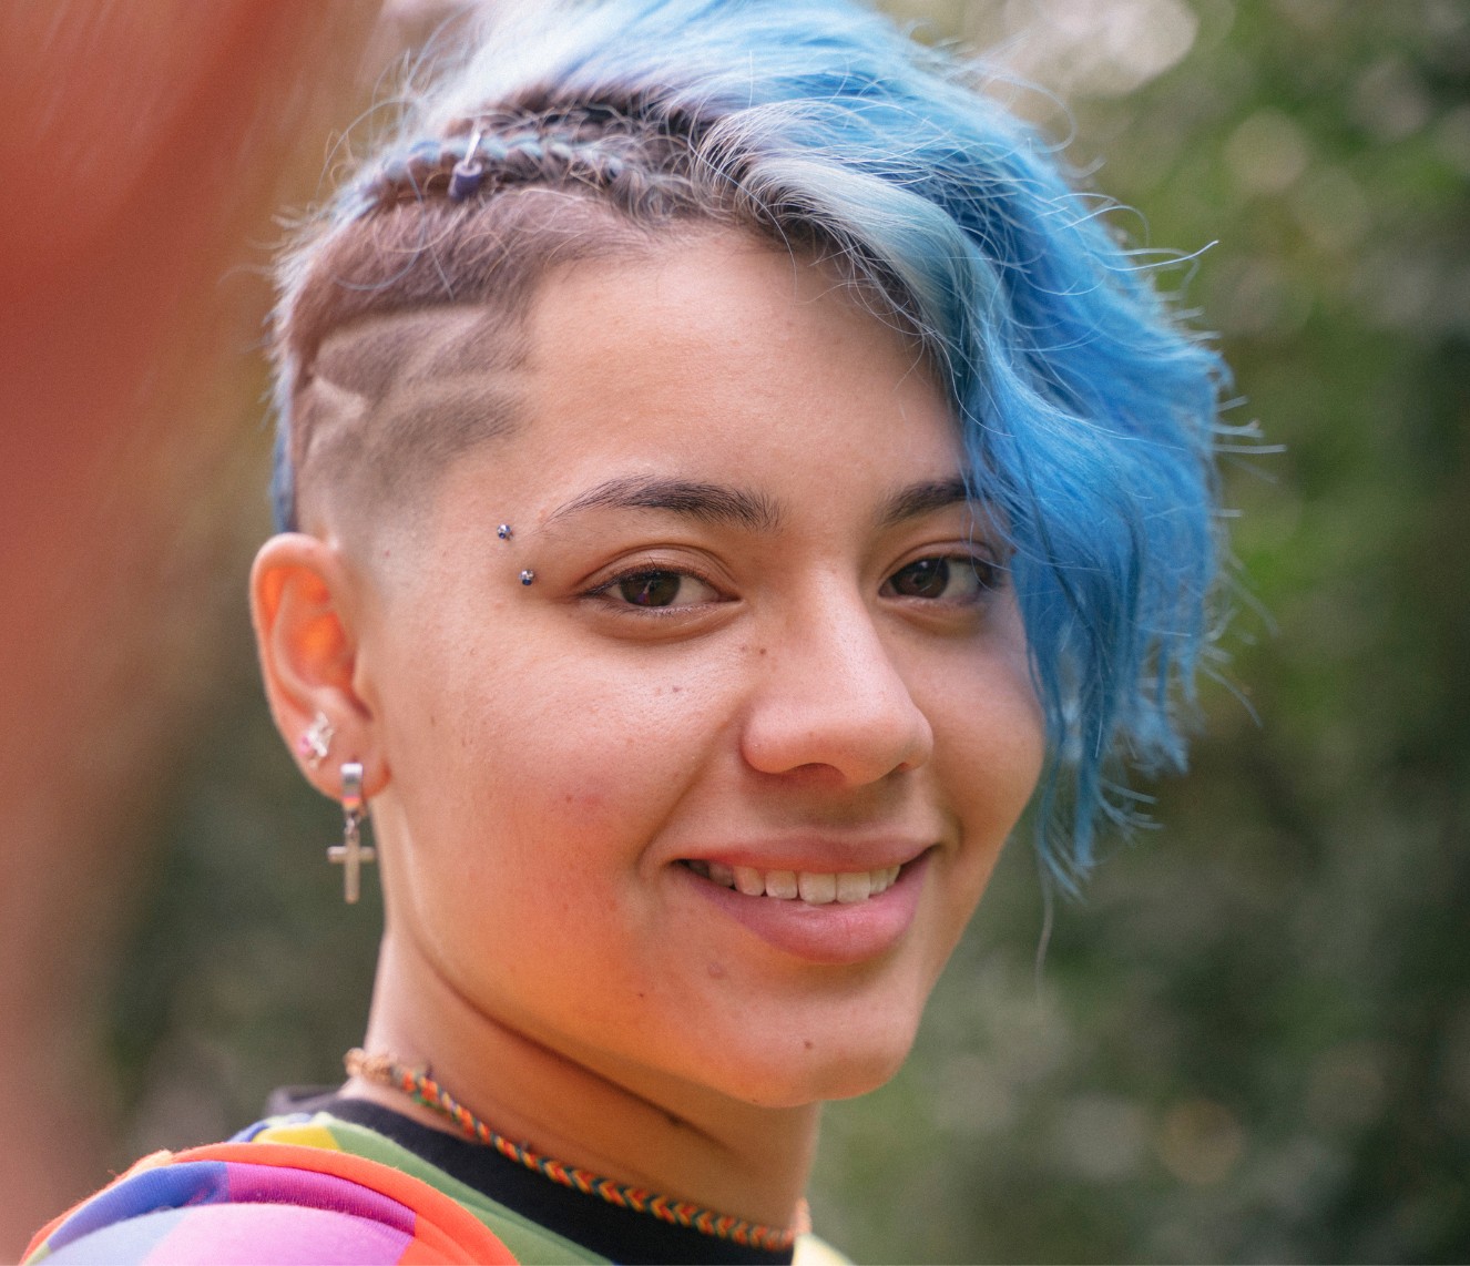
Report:
[[[43,1228],[25,1262],[517,1260],[459,1200],[350,1142],[328,1120],[278,1120],[146,1156]]]

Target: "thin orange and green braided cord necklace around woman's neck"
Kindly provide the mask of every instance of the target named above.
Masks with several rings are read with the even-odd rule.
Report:
[[[581,1191],[584,1195],[595,1195],[609,1204],[616,1204],[619,1209],[648,1213],[660,1222],[667,1222],[673,1226],[686,1226],[691,1231],[698,1231],[701,1235],[732,1240],[735,1244],[747,1248],[764,1248],[772,1253],[785,1253],[795,1244],[797,1237],[808,1229],[807,1203],[804,1200],[797,1209],[797,1225],[789,1228],[763,1226],[759,1222],[747,1222],[742,1217],[732,1217],[728,1213],[716,1213],[713,1209],[703,1209],[688,1200],[657,1195],[642,1187],[628,1187],[592,1173],[589,1169],[579,1169],[575,1165],[563,1165],[560,1160],[541,1156],[525,1144],[514,1142],[498,1131],[491,1129],[426,1072],[409,1067],[390,1054],[368,1054],[363,1050],[353,1048],[347,1051],[343,1062],[350,1076],[360,1076],[373,1085],[406,1094],[415,1103],[453,1122],[467,1138],[495,1148],[507,1160],[513,1160],[516,1165],[522,1165],[542,1178],[550,1178],[562,1187],[569,1187],[573,1191]]]

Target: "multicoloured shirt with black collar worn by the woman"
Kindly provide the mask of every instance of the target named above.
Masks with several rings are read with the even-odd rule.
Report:
[[[416,1141],[425,1131],[448,1153],[454,1148],[476,1165],[491,1156],[485,1148],[429,1132],[387,1109],[338,1100],[337,1112],[398,1122],[392,1132]],[[294,1113],[259,1122],[229,1142],[160,1151],[134,1165],[103,1191],[57,1217],[32,1241],[25,1266],[69,1263],[428,1263],[523,1262],[589,1263],[610,1260],[751,1260],[772,1254],[735,1251],[725,1241],[684,1228],[648,1226],[651,1219],[612,1206],[597,1207],[594,1197],[554,1188],[554,1200],[567,1197],[572,1207],[592,1215],[595,1225],[612,1219],[598,1253],[553,1226],[544,1225],[479,1185],[460,1181],[388,1134],[337,1112]],[[495,1157],[500,1160],[500,1157]],[[506,1162],[510,1165],[510,1162]],[[535,1184],[547,1179],[525,1172]],[[517,1175],[519,1178],[519,1175]],[[487,1184],[481,1184],[487,1185]],[[538,1187],[529,1188],[542,1195]],[[581,1201],[594,1201],[582,1207]],[[563,1225],[553,1206],[532,1204],[538,1216]],[[606,1210],[606,1212],[604,1212]],[[617,1216],[631,1219],[629,1231],[642,1238],[617,1238]],[[673,1232],[670,1237],[669,1232]],[[595,1240],[597,1235],[588,1238]],[[622,1247],[623,1251],[617,1251]],[[694,1251],[689,1251],[694,1250]],[[698,1254],[698,1256],[695,1256]],[[844,1259],[814,1237],[797,1244],[798,1266],[829,1266]]]

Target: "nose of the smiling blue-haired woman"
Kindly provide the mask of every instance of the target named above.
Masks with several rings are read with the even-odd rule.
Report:
[[[929,718],[856,594],[792,613],[763,663],[741,738],[753,769],[856,787],[929,760]]]

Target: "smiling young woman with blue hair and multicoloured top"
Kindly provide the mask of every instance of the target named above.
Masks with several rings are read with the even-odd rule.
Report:
[[[1180,754],[1220,366],[838,0],[537,6],[282,266],[266,691],[387,898],[350,1079],[32,1260],[789,1260],[1022,810]]]

